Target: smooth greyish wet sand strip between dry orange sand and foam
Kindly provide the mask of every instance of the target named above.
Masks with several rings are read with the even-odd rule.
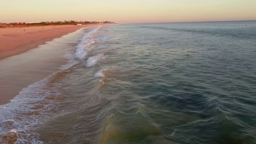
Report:
[[[39,45],[35,49],[1,60],[0,104],[8,103],[22,88],[43,80],[66,64],[67,58],[63,55],[76,46],[79,41],[78,33],[79,30]]]

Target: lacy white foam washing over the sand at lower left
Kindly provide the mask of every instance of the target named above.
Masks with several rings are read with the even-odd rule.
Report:
[[[48,99],[47,96],[58,97],[57,88],[59,84],[48,86],[49,79],[46,78],[36,82],[14,97],[8,104],[0,105],[0,135],[7,140],[17,140],[14,144],[42,144],[39,134],[31,132],[44,118],[48,118],[50,110],[56,106],[56,100]],[[43,106],[42,106],[43,105]],[[0,142],[5,142],[0,138]]]

